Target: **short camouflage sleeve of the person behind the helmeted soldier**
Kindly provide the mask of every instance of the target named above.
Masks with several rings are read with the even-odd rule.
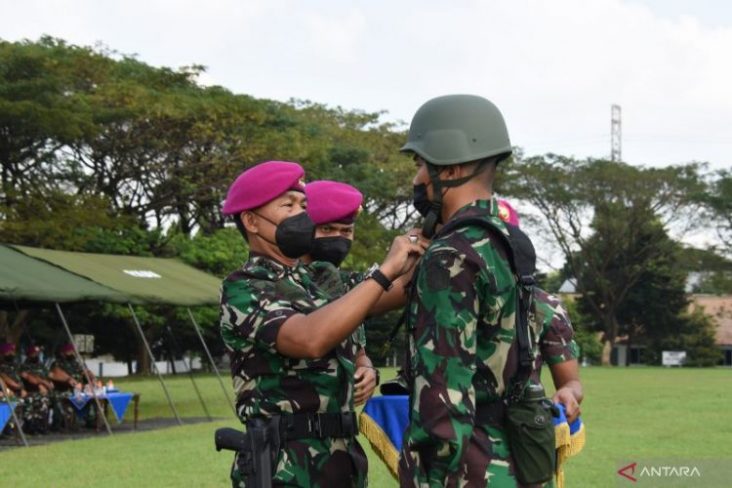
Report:
[[[544,362],[551,366],[577,359],[579,351],[574,341],[574,329],[561,300],[543,290],[539,290],[534,298],[537,318],[542,324],[539,350]]]

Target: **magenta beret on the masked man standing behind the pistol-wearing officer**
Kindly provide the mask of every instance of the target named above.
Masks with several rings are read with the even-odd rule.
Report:
[[[313,181],[305,186],[308,215],[315,225],[329,222],[352,222],[358,215],[363,195],[346,183]]]

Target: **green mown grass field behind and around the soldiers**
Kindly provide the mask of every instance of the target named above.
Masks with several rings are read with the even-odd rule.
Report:
[[[382,378],[391,376],[382,370]],[[587,445],[567,465],[568,487],[616,486],[618,463],[634,458],[732,463],[731,370],[596,367],[583,369],[582,380]],[[231,455],[214,450],[213,431],[238,421],[214,377],[197,381],[211,414],[222,420],[6,450],[0,486],[227,486]],[[183,417],[203,416],[187,377],[166,382]],[[141,418],[172,416],[155,379],[117,384],[142,394]],[[370,486],[396,486],[364,443]]]

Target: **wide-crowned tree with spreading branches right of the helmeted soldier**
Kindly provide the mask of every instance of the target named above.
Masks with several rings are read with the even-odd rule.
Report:
[[[699,171],[695,164],[639,168],[551,154],[508,167],[504,192],[538,208],[578,278],[587,313],[604,334],[603,364],[621,332],[619,307],[657,252],[654,242],[641,244],[644,226],[656,217],[692,224],[683,215],[695,210],[692,195],[704,187]]]

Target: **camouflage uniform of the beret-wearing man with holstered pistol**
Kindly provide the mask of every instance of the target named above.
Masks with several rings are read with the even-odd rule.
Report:
[[[332,267],[322,270],[322,279]],[[320,359],[295,359],[277,352],[280,326],[331,301],[301,264],[285,267],[252,254],[223,282],[221,336],[231,356],[231,374],[242,422],[287,413],[353,411],[357,347],[351,338]],[[275,462],[273,483],[303,487],[364,486],[366,456],[354,438],[287,440]],[[232,479],[244,486],[236,469]]]

